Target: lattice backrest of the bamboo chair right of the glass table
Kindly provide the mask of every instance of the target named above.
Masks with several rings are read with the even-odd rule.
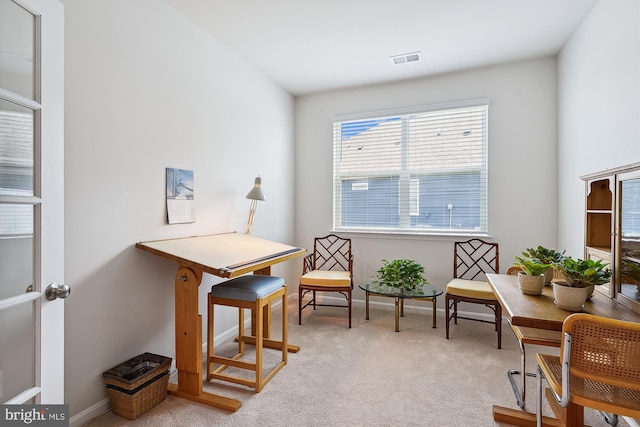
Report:
[[[453,246],[453,277],[486,280],[486,273],[500,271],[498,244],[481,239],[455,242]]]

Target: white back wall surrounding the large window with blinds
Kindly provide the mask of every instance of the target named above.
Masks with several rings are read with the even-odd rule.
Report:
[[[554,247],[556,61],[544,58],[401,83],[296,99],[296,241],[312,247],[331,229],[333,115],[489,97],[489,230],[500,243],[501,270],[527,247]],[[355,282],[382,259],[422,262],[444,287],[453,270],[453,238],[349,234]],[[358,294],[362,298],[361,294]],[[442,305],[442,302],[439,302]],[[443,331],[444,334],[444,331]]]

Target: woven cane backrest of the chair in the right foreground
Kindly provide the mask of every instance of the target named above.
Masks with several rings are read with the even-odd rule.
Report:
[[[640,323],[575,313],[562,332],[571,335],[572,376],[640,390]]]

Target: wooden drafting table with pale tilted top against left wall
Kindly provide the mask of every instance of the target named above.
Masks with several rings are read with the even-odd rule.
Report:
[[[175,337],[178,383],[169,384],[169,394],[204,405],[235,412],[242,403],[205,392],[202,370],[202,316],[198,288],[204,273],[233,278],[247,273],[271,274],[271,266],[303,256],[306,249],[273,242],[250,234],[220,233],[136,243],[136,248],[178,264],[175,276]],[[269,308],[269,307],[268,307]],[[270,310],[264,315],[268,337]],[[256,322],[252,321],[252,325]],[[253,326],[252,326],[253,327]],[[255,336],[255,332],[252,333]],[[288,345],[289,351],[299,347]]]

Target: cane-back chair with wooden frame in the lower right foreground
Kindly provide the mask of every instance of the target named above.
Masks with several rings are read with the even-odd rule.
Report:
[[[617,415],[640,418],[640,323],[575,313],[562,333],[560,356],[537,355],[537,425],[543,377],[563,408],[574,403],[596,409],[612,425]]]

